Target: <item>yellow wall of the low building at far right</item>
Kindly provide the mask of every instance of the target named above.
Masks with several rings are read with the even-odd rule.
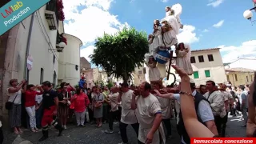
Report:
[[[237,78],[236,78],[237,77]],[[248,80],[247,80],[247,78]],[[251,72],[226,72],[226,79],[233,86],[249,85],[254,80],[254,73]]]

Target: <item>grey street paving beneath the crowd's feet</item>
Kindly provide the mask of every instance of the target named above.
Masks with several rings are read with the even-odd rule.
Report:
[[[246,137],[246,128],[241,127],[242,121],[240,120],[241,116],[230,117],[229,122],[226,126],[226,137]],[[175,126],[175,120],[171,120],[172,123],[172,133],[173,136],[168,140],[168,144],[180,143],[180,138]],[[63,131],[62,137],[57,137],[58,132],[55,130],[50,130],[50,138],[45,142],[38,142],[38,139],[42,136],[41,132],[32,133],[30,130],[24,130],[24,134],[21,137],[17,137],[14,134],[6,134],[4,143],[5,144],[102,144],[102,143],[113,143],[117,144],[122,142],[120,134],[118,134],[118,124],[114,125],[114,134],[105,134],[104,130],[108,128],[107,124],[104,124],[102,128],[95,128],[94,125],[86,124],[85,128],[77,128],[76,126],[68,126],[68,130]],[[130,140],[130,144],[136,144],[137,140],[135,137],[134,130],[131,126],[127,127],[127,134]]]

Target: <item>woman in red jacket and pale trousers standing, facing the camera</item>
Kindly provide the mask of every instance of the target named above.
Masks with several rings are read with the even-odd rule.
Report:
[[[71,102],[74,102],[74,114],[78,126],[84,127],[86,107],[90,104],[88,96],[82,92],[82,89],[78,88],[76,94],[71,98]]]

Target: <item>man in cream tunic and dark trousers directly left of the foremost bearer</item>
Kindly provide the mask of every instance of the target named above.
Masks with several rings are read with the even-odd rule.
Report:
[[[138,138],[138,121],[136,118],[135,110],[131,109],[131,100],[133,98],[134,91],[129,89],[129,85],[127,82],[122,83],[122,93],[118,96],[118,102],[122,102],[122,115],[121,121],[119,123],[120,134],[122,138],[122,142],[119,144],[128,143],[128,138],[126,134],[126,127],[131,125]]]

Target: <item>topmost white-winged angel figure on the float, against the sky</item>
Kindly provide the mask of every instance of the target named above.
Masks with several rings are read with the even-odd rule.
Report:
[[[181,19],[179,18],[179,16],[182,14],[182,5],[177,3],[174,6],[166,6],[166,17],[173,15],[178,22],[178,25],[181,29],[183,29],[183,25],[181,22]]]

